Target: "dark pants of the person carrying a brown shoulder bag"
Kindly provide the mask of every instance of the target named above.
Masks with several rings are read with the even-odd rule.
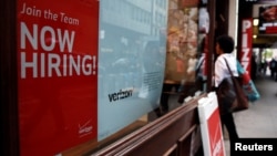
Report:
[[[225,125],[227,131],[228,131],[229,141],[230,142],[236,141],[238,138],[238,135],[237,135],[237,129],[236,129],[236,125],[235,125],[233,114],[232,113],[226,113],[224,115],[220,115],[220,119],[222,119],[222,123],[223,123],[222,126]]]

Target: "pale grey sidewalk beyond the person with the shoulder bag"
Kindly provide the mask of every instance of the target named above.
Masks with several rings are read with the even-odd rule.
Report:
[[[250,104],[249,110],[235,113],[239,137],[277,138],[277,82],[266,76],[258,76],[254,83],[260,100]],[[229,142],[225,138],[226,154],[229,155]]]

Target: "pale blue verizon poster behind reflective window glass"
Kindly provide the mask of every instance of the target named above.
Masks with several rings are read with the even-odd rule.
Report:
[[[158,106],[167,0],[101,0],[99,139]]]

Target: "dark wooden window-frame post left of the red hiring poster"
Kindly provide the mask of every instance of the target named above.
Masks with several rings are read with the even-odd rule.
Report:
[[[16,0],[0,1],[0,155],[2,156],[19,155],[16,9]]]

